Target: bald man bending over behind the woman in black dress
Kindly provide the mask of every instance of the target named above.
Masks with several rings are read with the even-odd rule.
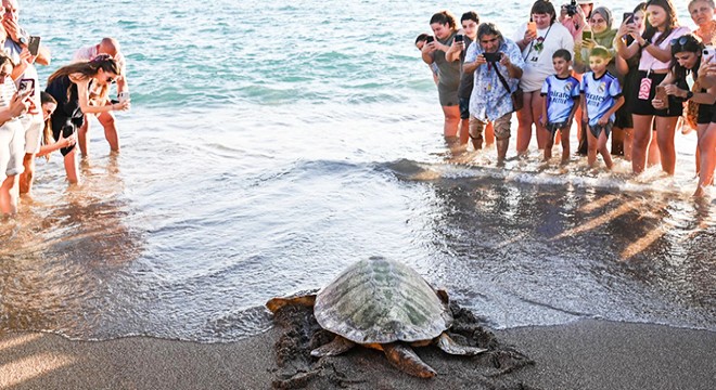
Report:
[[[79,61],[91,61],[100,54],[110,54],[113,58],[117,61],[119,67],[122,68],[122,76],[116,80],[117,82],[117,100],[124,102],[129,99],[129,86],[127,84],[127,68],[125,63],[125,56],[119,50],[119,42],[114,38],[104,38],[98,44],[92,44],[79,49],[75,56],[73,57],[74,62]],[[98,104],[111,105],[111,101],[98,102]],[[100,121],[100,125],[104,128],[104,138],[110,143],[110,150],[112,152],[119,152],[119,136],[117,135],[117,127],[115,125],[115,117],[112,112],[106,112],[98,115],[97,119]],[[85,117],[85,125],[79,128],[77,131],[77,142],[79,143],[79,151],[82,153],[82,156],[88,156],[88,144],[87,144],[87,133],[89,132],[89,120]]]

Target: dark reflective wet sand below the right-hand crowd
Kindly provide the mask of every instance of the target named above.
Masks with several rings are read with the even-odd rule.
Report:
[[[600,316],[714,329],[711,207],[681,194],[524,184],[465,170],[474,172],[425,183],[436,195],[425,229],[444,264],[439,281],[496,326]]]

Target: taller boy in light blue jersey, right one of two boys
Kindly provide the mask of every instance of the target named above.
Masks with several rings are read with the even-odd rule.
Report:
[[[581,78],[581,93],[585,95],[581,103],[583,119],[589,123],[587,162],[593,167],[599,151],[604,158],[606,169],[610,170],[612,157],[606,150],[606,139],[614,126],[615,113],[624,104],[619,81],[606,72],[606,65],[611,60],[606,48],[594,47],[589,52],[591,72],[585,73]]]

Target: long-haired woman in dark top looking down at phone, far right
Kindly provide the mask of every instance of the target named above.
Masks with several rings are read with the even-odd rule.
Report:
[[[681,101],[688,101],[689,105],[698,104],[693,110],[690,122],[696,125],[699,135],[699,152],[701,156],[701,171],[699,172],[699,185],[694,196],[702,196],[703,190],[711,184],[714,174],[714,154],[716,153],[716,118],[714,117],[714,102],[716,102],[716,83],[703,88],[709,82],[699,72],[702,62],[704,46],[693,35],[685,35],[672,42],[672,67],[662,82],[664,90],[669,96]],[[711,58],[704,58],[709,62]],[[703,72],[705,75],[706,73]],[[688,76],[694,81],[694,91],[689,90]],[[665,102],[655,99],[653,105],[657,109],[664,108]],[[712,126],[714,125],[714,126]],[[711,131],[709,131],[711,130]]]

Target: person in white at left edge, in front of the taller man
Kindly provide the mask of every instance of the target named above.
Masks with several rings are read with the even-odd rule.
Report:
[[[25,128],[20,117],[27,112],[31,91],[18,95],[10,75],[12,60],[0,52],[0,216],[17,212],[17,176],[23,172]]]

